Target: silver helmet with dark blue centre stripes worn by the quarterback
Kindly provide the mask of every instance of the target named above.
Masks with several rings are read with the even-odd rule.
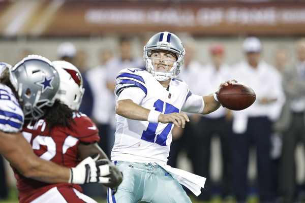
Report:
[[[154,58],[150,57],[153,50],[167,50],[176,55],[177,60],[173,61],[174,65],[170,71],[157,71],[155,70]],[[178,77],[180,73],[180,66],[184,61],[185,48],[181,40],[173,33],[164,31],[159,32],[151,37],[147,44],[144,46],[144,61],[146,62],[146,71],[151,73],[158,81],[166,81],[170,78]],[[158,58],[155,58],[158,59]],[[170,60],[167,61],[167,65]]]

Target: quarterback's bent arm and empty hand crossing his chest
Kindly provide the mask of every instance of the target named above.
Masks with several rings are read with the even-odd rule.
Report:
[[[139,88],[126,88],[123,90],[116,102],[115,113],[125,118],[133,120],[147,121],[150,111],[138,104],[141,102],[141,98],[135,96],[141,93]],[[186,121],[190,121],[185,113],[170,113],[159,114],[158,122],[161,123],[174,123],[177,127],[185,127]]]

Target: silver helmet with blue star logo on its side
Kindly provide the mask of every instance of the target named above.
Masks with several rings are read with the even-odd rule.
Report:
[[[59,75],[47,58],[28,55],[10,69],[10,81],[23,102],[25,119],[38,119],[54,104]]]

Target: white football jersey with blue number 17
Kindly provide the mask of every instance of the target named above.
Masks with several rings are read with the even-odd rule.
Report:
[[[150,73],[140,69],[124,69],[118,73],[116,100],[120,91],[129,87],[141,88],[145,93],[140,106],[163,114],[180,112],[191,95],[184,81],[172,79],[169,88],[165,89]],[[117,114],[116,122],[111,160],[158,164],[167,162],[173,124],[132,120]]]

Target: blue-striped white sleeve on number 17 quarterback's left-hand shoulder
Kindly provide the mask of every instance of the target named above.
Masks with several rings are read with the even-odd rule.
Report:
[[[147,94],[146,84],[143,78],[142,69],[124,69],[116,77],[115,94],[119,96],[123,89],[128,87],[138,87]],[[146,72],[146,71],[145,71]]]

